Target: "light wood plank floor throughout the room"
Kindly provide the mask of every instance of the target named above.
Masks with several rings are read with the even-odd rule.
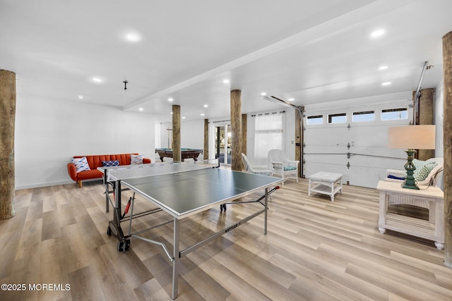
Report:
[[[443,251],[430,241],[379,233],[376,190],[345,185],[331,202],[307,197],[307,184],[288,180],[273,193],[267,235],[258,216],[183,257],[177,300],[452,300]],[[16,192],[16,216],[0,221],[0,283],[27,289],[1,290],[0,300],[171,300],[172,268],[160,247],[131,238],[131,249],[117,252],[106,233],[112,211],[105,213],[103,192],[100,182]],[[149,206],[138,198],[135,207]],[[253,206],[185,219],[182,244]],[[133,228],[153,219],[168,216],[137,219]],[[172,225],[145,235],[171,247]],[[28,289],[46,283],[70,290]]]

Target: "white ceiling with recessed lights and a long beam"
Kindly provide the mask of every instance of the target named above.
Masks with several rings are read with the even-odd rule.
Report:
[[[0,0],[0,68],[16,73],[18,102],[143,108],[160,121],[172,104],[185,120],[228,116],[234,89],[242,113],[278,107],[261,92],[299,106],[409,97],[425,61],[422,88],[442,78],[451,12],[451,0]]]

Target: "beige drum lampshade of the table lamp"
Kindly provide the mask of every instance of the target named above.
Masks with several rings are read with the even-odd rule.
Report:
[[[388,128],[392,149],[435,149],[435,125],[405,125]]]

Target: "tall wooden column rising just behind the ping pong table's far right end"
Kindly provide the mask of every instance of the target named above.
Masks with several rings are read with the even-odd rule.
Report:
[[[231,169],[242,171],[242,91],[231,91]]]

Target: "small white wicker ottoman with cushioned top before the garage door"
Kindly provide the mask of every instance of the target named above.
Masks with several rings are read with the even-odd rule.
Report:
[[[334,195],[338,192],[342,194],[342,175],[340,173],[327,173],[319,171],[309,176],[308,197],[311,192],[329,195],[331,202],[334,202]]]

